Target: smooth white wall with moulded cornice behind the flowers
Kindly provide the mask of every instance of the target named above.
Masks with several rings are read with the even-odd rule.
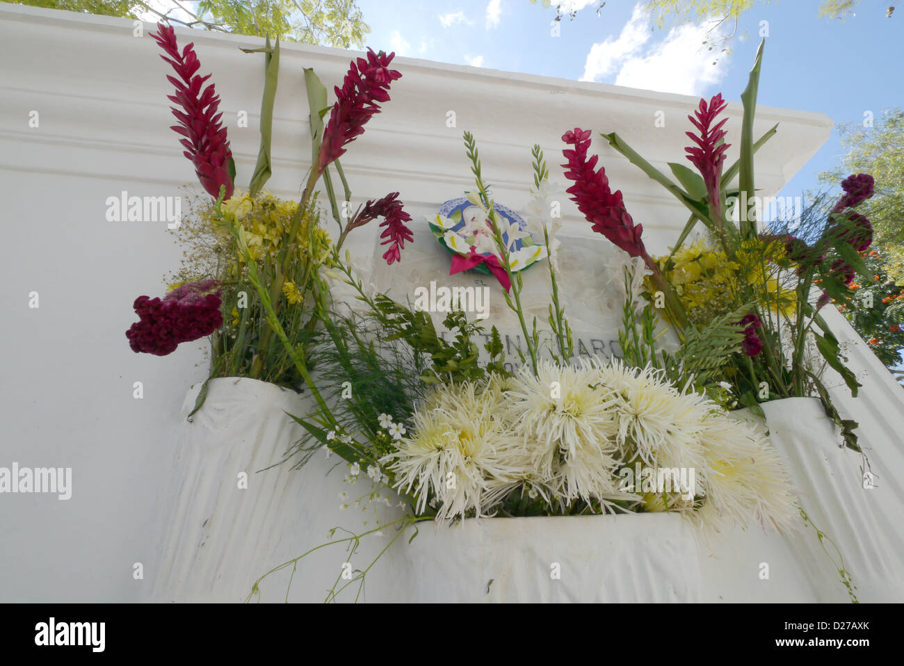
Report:
[[[0,218],[6,250],[0,268],[0,465],[71,467],[73,474],[66,502],[46,494],[0,496],[0,601],[146,598],[149,584],[133,579],[133,564],[153,567],[157,557],[149,528],[170,487],[176,417],[185,391],[206,376],[201,342],[165,358],[130,351],[124,333],[135,320],[132,301],[161,294],[162,277],[178,266],[181,250],[164,222],[105,219],[108,196],[123,190],[179,195],[180,186],[195,182],[168,128],[169,71],[148,36],[152,29],[146,24],[139,38],[130,21],[0,5]],[[262,56],[238,47],[260,41],[176,32],[180,44],[195,43],[202,73],[213,74],[238,182],[246,185],[259,145],[263,64]],[[306,168],[302,68],[314,67],[332,89],[351,57],[334,49],[283,46],[272,192],[297,195]],[[665,168],[665,162],[682,159],[684,117],[696,101],[414,59],[399,58],[394,66],[403,78],[392,87],[391,103],[343,163],[355,203],[398,190],[416,220],[469,186],[464,129],[479,141],[497,200],[518,207],[527,200],[534,143],[545,149],[560,182],[561,170],[554,166],[560,163],[560,135],[577,126],[595,133],[615,130]],[[236,126],[240,110],[248,112],[250,127]],[[447,127],[449,110],[457,114],[457,127]],[[666,127],[654,129],[658,110],[666,114]],[[29,126],[32,111],[39,114],[39,127]],[[737,145],[739,102],[731,102],[728,113],[727,140]],[[760,108],[756,134],[775,123],[778,135],[757,156],[764,194],[777,193],[832,126],[820,114]],[[683,209],[602,142],[594,144],[629,211],[644,224],[647,245],[664,250],[686,220]],[[736,155],[732,148],[730,160]],[[570,202],[563,202],[563,211],[568,235],[593,236]],[[422,233],[426,225],[418,223]],[[378,231],[355,234],[353,252],[372,257]],[[33,291],[40,298],[36,309],[29,307]],[[864,389],[872,391],[869,404],[899,406],[899,397],[882,397],[897,387],[871,353],[863,350],[856,361],[873,376],[872,388]],[[143,383],[143,399],[133,398],[136,381]],[[899,442],[894,424],[888,427]]]

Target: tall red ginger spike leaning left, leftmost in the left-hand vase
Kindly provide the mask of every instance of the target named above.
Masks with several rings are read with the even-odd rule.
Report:
[[[216,94],[213,84],[202,90],[204,81],[211,75],[195,73],[201,68],[201,63],[194,53],[194,44],[187,44],[180,54],[173,27],[157,23],[157,30],[151,36],[170,56],[160,57],[169,62],[179,75],[179,79],[166,77],[175,86],[175,95],[168,95],[167,98],[184,109],[180,111],[171,107],[180,123],[171,128],[184,137],[180,141],[185,147],[184,155],[194,164],[194,173],[198,175],[204,190],[216,199],[220,196],[221,185],[225,185],[223,201],[226,201],[232,196],[232,177],[229,173],[232,151],[226,138],[226,128],[221,126],[222,113],[217,113],[220,96]]]

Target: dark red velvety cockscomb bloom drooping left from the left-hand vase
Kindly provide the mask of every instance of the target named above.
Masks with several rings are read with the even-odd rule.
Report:
[[[180,286],[164,298],[138,296],[139,321],[126,332],[133,352],[166,356],[182,342],[210,335],[223,323],[220,295],[212,293],[214,280]]]

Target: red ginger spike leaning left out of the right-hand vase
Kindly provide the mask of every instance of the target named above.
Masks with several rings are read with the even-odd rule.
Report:
[[[566,190],[573,195],[571,201],[578,204],[578,210],[593,224],[594,231],[632,257],[646,258],[643,225],[635,225],[631,219],[621,191],[612,192],[609,188],[606,169],[600,166],[598,171],[594,171],[598,156],[587,156],[590,130],[575,127],[562,135],[562,141],[574,146],[562,150],[562,155],[568,160],[567,164],[562,164],[567,169],[565,177],[575,182]]]

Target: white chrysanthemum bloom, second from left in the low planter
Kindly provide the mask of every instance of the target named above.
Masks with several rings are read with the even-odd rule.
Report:
[[[532,451],[536,478],[566,499],[616,492],[617,396],[593,386],[590,366],[526,366],[511,380],[506,417]]]

